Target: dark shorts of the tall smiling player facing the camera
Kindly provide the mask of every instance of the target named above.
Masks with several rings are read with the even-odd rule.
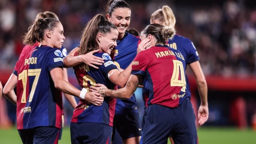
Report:
[[[126,115],[115,115],[113,136],[115,129],[120,134],[122,140],[142,135],[139,113],[129,113]],[[112,138],[112,140],[114,137]]]

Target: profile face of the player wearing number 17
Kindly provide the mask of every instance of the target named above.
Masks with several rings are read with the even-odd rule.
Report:
[[[51,31],[51,39],[50,42],[54,48],[61,48],[65,36],[63,35],[63,26],[59,22],[58,25]]]

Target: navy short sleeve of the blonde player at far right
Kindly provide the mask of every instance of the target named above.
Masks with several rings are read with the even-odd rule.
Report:
[[[188,52],[188,64],[198,61],[199,60],[199,55],[198,52],[196,51],[196,47],[193,44],[193,42],[191,42],[190,40],[188,40],[187,43],[187,49],[189,50]]]

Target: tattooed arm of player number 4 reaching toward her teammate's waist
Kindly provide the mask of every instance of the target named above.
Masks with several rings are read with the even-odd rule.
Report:
[[[132,94],[137,89],[139,82],[142,80],[142,76],[140,74],[131,75],[128,79],[125,87],[118,90],[109,90],[103,84],[96,84],[98,87],[90,87],[92,92],[97,92],[101,97],[113,97],[117,99],[129,99]]]

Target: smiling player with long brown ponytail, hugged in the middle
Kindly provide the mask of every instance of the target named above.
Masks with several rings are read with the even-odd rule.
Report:
[[[79,47],[68,55],[77,56],[99,49],[100,52],[94,55],[103,58],[105,63],[99,66],[99,69],[85,64],[73,67],[76,78],[83,88],[82,91],[89,91],[89,86],[95,86],[95,84],[104,84],[109,89],[114,89],[116,85],[124,87],[126,84],[131,74],[132,64],[120,72],[109,55],[116,46],[117,37],[116,26],[105,20],[102,14],[97,14],[87,23]],[[64,59],[64,63],[66,62]],[[110,97],[104,99],[102,106],[91,105],[80,100],[71,120],[71,142],[74,144],[110,143],[115,105],[116,99]]]

